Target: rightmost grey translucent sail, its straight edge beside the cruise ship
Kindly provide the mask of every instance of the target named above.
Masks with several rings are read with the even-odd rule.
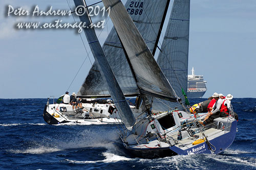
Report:
[[[189,0],[174,1],[168,26],[157,62],[164,75],[182,99],[182,88],[187,91],[188,37],[189,37]],[[154,100],[154,110],[169,110],[168,107],[183,109],[178,103]]]

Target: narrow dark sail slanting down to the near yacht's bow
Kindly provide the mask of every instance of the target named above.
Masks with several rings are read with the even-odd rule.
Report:
[[[76,7],[86,6],[86,4],[83,4],[83,1],[81,0],[74,0],[74,3]],[[87,23],[86,26],[90,26],[91,19],[89,18],[88,10],[86,11],[86,14],[79,16],[79,18],[82,22]],[[129,104],[125,100],[122,90],[115,79],[115,76],[110,68],[110,65],[108,64],[108,61],[106,60],[101,45],[96,36],[95,30],[94,28],[88,27],[83,28],[83,31],[86,34],[93,56],[98,64],[101,76],[108,84],[108,90],[111,94],[112,99],[114,100],[117,110],[120,113],[123,123],[126,128],[130,128],[135,124],[135,117]]]

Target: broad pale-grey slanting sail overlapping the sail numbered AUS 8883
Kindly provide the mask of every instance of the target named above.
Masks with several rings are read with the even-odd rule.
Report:
[[[124,46],[140,92],[172,102],[177,101],[172,86],[121,1],[103,0],[102,2],[106,8],[111,7],[111,20]]]

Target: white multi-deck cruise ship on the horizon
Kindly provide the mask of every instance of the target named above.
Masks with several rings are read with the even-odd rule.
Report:
[[[187,75],[187,98],[202,98],[207,90],[204,76],[195,75],[194,67],[192,68],[192,75]]]

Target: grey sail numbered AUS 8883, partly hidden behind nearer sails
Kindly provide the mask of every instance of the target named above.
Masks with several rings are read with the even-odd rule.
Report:
[[[157,35],[160,33],[162,20],[165,18],[168,5],[169,0],[128,0],[125,4],[126,10],[130,13],[153,55],[156,51]],[[111,30],[102,48],[123,93],[126,95],[138,94],[139,90],[115,28]],[[108,85],[102,79],[96,62],[94,62],[86,80],[80,87],[78,95],[109,96]]]

